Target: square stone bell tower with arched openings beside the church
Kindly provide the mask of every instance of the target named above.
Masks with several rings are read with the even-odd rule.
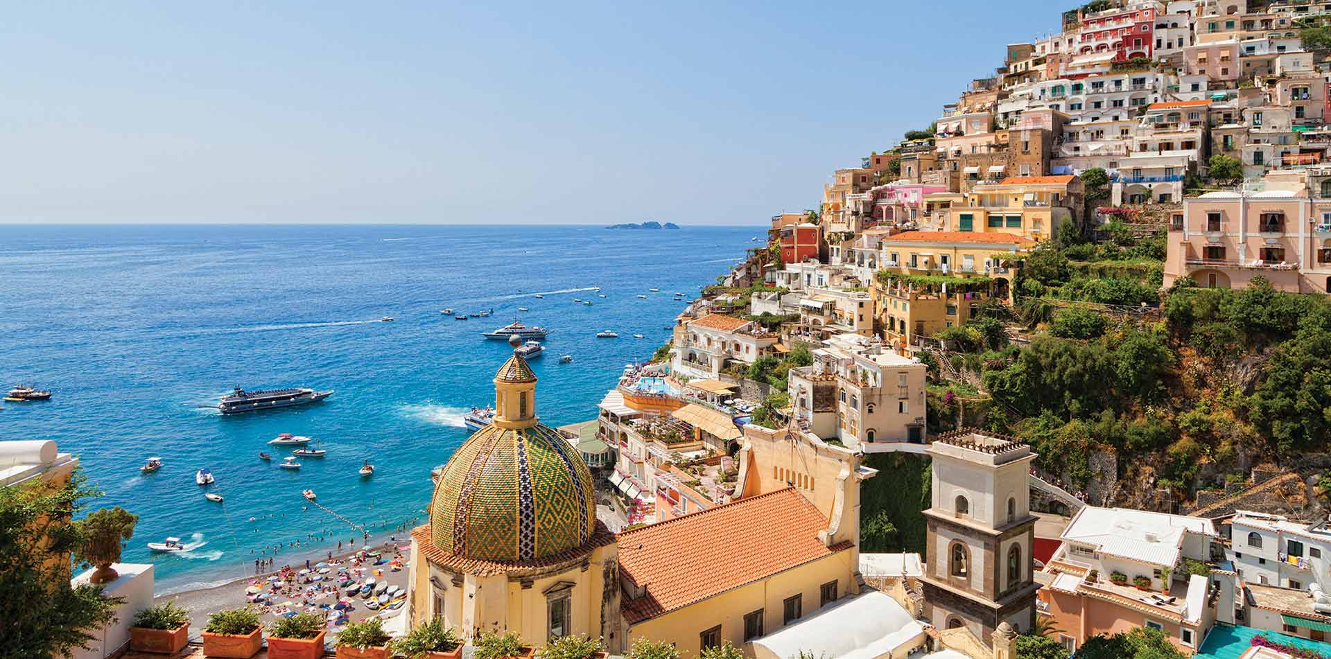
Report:
[[[932,503],[924,511],[924,612],[940,630],[1030,631],[1036,618],[1030,446],[977,430],[929,446]]]

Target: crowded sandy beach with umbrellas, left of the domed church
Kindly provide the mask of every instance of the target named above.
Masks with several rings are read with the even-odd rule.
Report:
[[[369,556],[366,551],[379,551],[381,555]],[[309,568],[306,568],[305,562],[281,564],[276,570],[265,570],[261,574],[221,586],[160,595],[154,598],[154,602],[176,600],[177,604],[189,610],[192,636],[197,636],[204,630],[209,614],[246,604],[261,611],[265,626],[286,611],[311,611],[326,615],[339,600],[350,604],[350,610],[346,612],[347,622],[362,620],[373,615],[382,615],[387,619],[401,615],[406,608],[371,610],[366,606],[369,599],[363,599],[359,594],[347,596],[346,588],[337,588],[337,584],[343,579],[365,583],[373,576],[377,583],[387,583],[390,587],[397,586],[405,591],[410,559],[407,542],[402,539],[398,542],[383,541],[369,549],[334,554],[331,559],[310,559]],[[378,564],[375,564],[377,562]],[[326,567],[318,567],[321,564],[326,564]],[[301,574],[305,570],[309,571]],[[319,574],[321,570],[326,570],[326,572]],[[314,579],[315,576],[318,579]],[[257,592],[256,588],[258,588]],[[258,603],[253,602],[256,594],[264,595]],[[330,634],[335,634],[341,626],[329,628]]]

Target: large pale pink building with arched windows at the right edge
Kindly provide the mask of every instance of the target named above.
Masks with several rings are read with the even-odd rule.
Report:
[[[1331,292],[1331,168],[1271,172],[1263,192],[1183,200],[1165,286],[1189,276],[1203,288],[1244,288],[1258,274],[1279,290]]]

